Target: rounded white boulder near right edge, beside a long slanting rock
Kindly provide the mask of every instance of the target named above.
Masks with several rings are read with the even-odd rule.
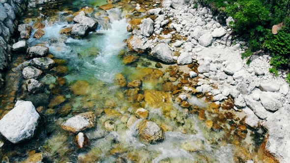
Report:
[[[274,92],[261,92],[260,100],[263,107],[267,110],[276,111],[282,107],[280,94]]]

